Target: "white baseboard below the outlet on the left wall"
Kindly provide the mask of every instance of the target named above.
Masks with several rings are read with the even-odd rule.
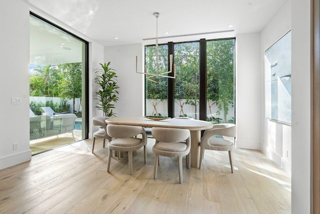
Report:
[[[4,169],[31,160],[31,150],[0,157],[0,169]]]

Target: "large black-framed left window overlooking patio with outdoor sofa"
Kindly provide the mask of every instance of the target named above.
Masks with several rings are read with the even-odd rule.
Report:
[[[87,138],[87,45],[30,14],[30,149],[40,153]]]

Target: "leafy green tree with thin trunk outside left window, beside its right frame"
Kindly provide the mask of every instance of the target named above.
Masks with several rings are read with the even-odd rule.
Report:
[[[59,97],[73,101],[74,113],[75,98],[80,98],[81,103],[82,97],[82,63],[59,64],[58,73],[60,75],[58,80]]]

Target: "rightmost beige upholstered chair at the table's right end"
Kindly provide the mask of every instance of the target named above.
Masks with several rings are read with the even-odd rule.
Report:
[[[231,151],[234,147],[234,143],[223,138],[214,137],[215,135],[221,135],[226,137],[236,136],[236,125],[230,123],[214,124],[211,129],[204,131],[204,134],[200,141],[200,161],[199,169],[201,169],[201,163],[205,149],[228,151],[229,161],[231,166],[231,172],[233,173],[232,154]]]

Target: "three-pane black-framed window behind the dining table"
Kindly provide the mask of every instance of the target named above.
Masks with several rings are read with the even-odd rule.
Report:
[[[159,46],[161,71],[168,71],[168,56],[173,54],[176,76],[146,78],[145,114],[234,123],[234,42],[231,38]],[[145,64],[154,72],[155,46],[145,47]]]

